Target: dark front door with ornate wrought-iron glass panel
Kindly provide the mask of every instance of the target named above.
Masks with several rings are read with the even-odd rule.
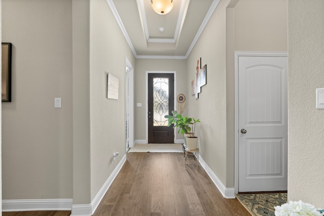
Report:
[[[148,73],[148,143],[173,143],[165,115],[174,109],[174,74]]]

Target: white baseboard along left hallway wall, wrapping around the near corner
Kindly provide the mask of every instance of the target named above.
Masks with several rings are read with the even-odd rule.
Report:
[[[115,169],[112,171],[105,184],[101,187],[95,198],[90,204],[72,205],[71,216],[91,216],[95,213],[103,196],[106,194],[113,180],[116,178],[121,167],[126,162],[126,154],[121,158]]]

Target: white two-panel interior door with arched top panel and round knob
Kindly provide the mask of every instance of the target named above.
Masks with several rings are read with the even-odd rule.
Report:
[[[287,190],[287,57],[238,58],[238,191]]]

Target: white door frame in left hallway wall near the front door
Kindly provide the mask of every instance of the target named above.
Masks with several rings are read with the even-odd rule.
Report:
[[[129,69],[128,71],[127,68]],[[129,101],[127,101],[127,98],[129,98]],[[130,103],[129,106],[127,106],[128,102]],[[125,147],[127,150],[128,148],[134,147],[134,67],[127,57],[125,59],[125,129],[126,129],[126,113],[127,113],[126,109],[128,109],[128,113],[129,113],[128,146],[127,146],[127,137],[125,136]]]

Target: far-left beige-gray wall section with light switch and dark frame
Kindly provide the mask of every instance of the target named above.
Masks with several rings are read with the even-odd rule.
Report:
[[[3,199],[72,198],[71,1],[2,1],[13,44],[2,104]],[[54,98],[62,108],[54,108]]]

